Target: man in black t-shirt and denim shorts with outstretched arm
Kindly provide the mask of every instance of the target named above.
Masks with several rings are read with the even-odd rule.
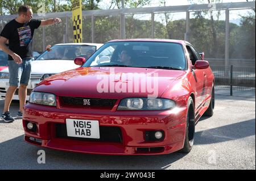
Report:
[[[26,103],[27,85],[30,81],[32,37],[34,30],[39,26],[59,23],[59,18],[36,20],[30,6],[20,6],[18,18],[11,20],[3,28],[0,34],[0,49],[9,54],[9,83],[10,87],[5,96],[5,107],[1,119],[5,122],[13,122],[9,112],[11,100],[15,90],[19,87],[19,111],[17,117],[22,117],[23,106]],[[9,48],[6,42],[9,40]]]

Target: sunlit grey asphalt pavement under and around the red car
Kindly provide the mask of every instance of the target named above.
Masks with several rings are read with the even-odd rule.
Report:
[[[24,142],[21,119],[14,123],[0,121],[0,169],[255,170],[255,92],[243,95],[216,95],[214,115],[201,117],[195,145],[188,154],[112,156],[56,151]],[[1,111],[3,102],[0,99]],[[16,115],[18,106],[18,102],[11,103],[12,115]],[[40,150],[46,154],[45,163],[38,163]]]

